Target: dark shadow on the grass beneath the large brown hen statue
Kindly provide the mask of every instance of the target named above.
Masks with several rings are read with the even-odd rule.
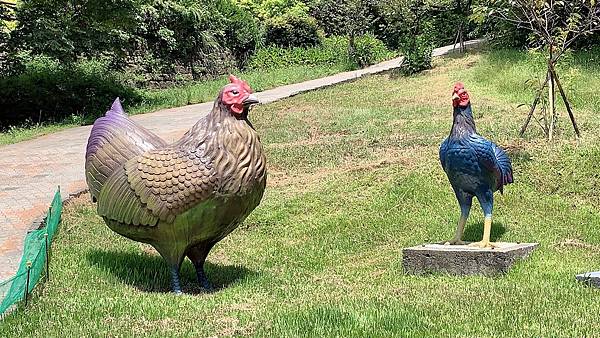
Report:
[[[139,252],[105,251],[94,249],[87,253],[88,262],[120,279],[124,284],[144,292],[172,291],[169,266],[159,255]],[[256,276],[256,272],[239,265],[221,265],[206,261],[204,269],[213,285],[213,292],[225,289],[238,281]],[[184,293],[206,293],[196,278],[196,270],[189,260],[180,269]]]

